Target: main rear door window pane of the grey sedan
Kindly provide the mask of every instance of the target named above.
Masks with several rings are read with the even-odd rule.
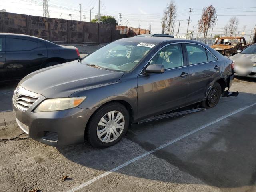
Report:
[[[188,52],[188,61],[190,65],[207,62],[207,56],[203,46],[186,44],[186,49]]]

